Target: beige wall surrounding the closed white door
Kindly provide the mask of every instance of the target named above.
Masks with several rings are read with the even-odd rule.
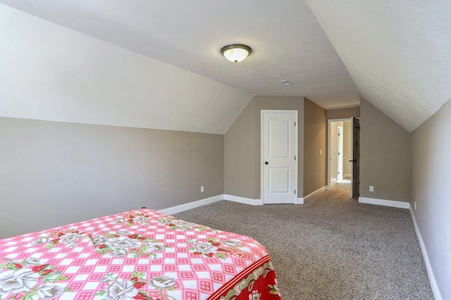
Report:
[[[225,194],[249,199],[261,197],[261,110],[297,110],[298,157],[303,157],[304,98],[254,96],[224,136]],[[299,159],[299,196],[302,195],[303,168],[303,161]]]

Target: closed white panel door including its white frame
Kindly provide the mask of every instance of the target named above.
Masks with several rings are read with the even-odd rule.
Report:
[[[261,111],[261,197],[264,204],[297,200],[297,111]]]

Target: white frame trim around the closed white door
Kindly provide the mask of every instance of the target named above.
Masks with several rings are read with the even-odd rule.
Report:
[[[296,110],[266,110],[262,109],[260,111],[260,197],[261,197],[261,204],[265,204],[264,202],[264,113],[295,113],[295,155],[296,155],[296,163],[295,163],[295,201],[294,204],[297,204],[297,195],[299,194],[299,189],[297,188],[297,168],[299,165],[299,153],[298,153],[298,135],[299,135],[299,118],[297,116]]]

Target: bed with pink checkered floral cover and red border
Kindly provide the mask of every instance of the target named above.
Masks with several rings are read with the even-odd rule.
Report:
[[[265,247],[151,209],[0,239],[0,299],[280,299]]]

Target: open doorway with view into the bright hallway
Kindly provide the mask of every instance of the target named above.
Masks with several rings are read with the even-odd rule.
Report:
[[[328,185],[352,185],[352,119],[328,120]]]

